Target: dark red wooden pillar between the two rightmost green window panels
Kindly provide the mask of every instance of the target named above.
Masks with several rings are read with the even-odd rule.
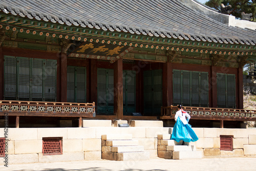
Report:
[[[217,72],[215,66],[211,66],[211,73],[209,77],[209,90],[211,95],[211,108],[217,108]]]

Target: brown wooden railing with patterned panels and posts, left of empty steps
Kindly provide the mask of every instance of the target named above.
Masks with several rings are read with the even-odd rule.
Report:
[[[16,116],[16,127],[19,116],[78,117],[81,127],[82,117],[95,117],[95,102],[67,103],[43,101],[0,100],[0,116]]]

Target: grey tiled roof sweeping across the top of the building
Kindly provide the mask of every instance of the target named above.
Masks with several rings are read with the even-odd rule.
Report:
[[[217,22],[178,0],[2,0],[1,12],[63,25],[223,44],[256,44],[256,31]]]

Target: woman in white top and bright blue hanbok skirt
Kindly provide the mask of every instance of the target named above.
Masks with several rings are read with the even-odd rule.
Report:
[[[182,140],[182,145],[184,145],[185,142],[194,142],[198,140],[196,133],[191,129],[191,125],[188,124],[189,119],[190,115],[183,111],[181,105],[178,105],[178,111],[175,115],[176,123],[174,125],[172,137],[170,138],[171,140],[175,140],[177,142]]]

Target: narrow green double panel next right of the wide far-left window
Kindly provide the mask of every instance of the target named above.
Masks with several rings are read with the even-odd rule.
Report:
[[[68,102],[86,102],[86,68],[68,66],[67,68]]]

